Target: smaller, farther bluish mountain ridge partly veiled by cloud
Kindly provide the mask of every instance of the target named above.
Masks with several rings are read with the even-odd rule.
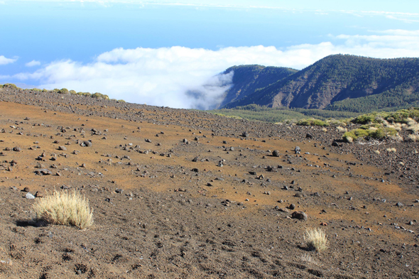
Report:
[[[285,67],[264,67],[261,65],[242,65],[229,67],[221,75],[234,72],[232,87],[225,93],[220,107],[241,99],[250,99],[255,92],[278,80],[295,74],[298,70]]]

